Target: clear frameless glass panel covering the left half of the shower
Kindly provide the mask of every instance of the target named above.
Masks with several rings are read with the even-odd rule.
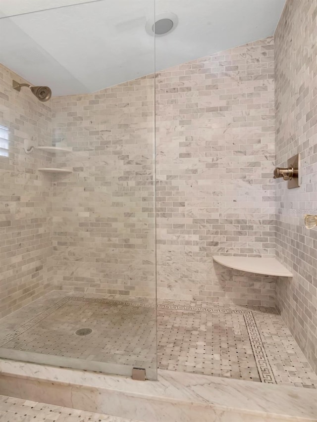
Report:
[[[70,3],[0,9],[0,357],[156,379],[154,0]]]

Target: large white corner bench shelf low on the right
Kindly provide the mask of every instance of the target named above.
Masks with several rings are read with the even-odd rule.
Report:
[[[213,261],[224,267],[266,276],[293,277],[283,264],[275,258],[249,258],[246,256],[213,256]]]

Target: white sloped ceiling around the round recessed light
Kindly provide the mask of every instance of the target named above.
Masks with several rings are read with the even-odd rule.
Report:
[[[79,4],[81,3],[81,4]],[[84,94],[274,33],[285,0],[0,0],[0,62],[53,95]],[[145,25],[172,12],[156,38]],[[67,6],[67,7],[65,7]],[[44,10],[46,9],[46,10]]]

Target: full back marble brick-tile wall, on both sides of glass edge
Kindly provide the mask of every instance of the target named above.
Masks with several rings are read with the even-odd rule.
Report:
[[[274,254],[273,66],[270,37],[156,75],[161,298],[274,305],[274,278],[212,264]],[[53,99],[53,141],[73,148],[53,188],[63,289],[154,295],[153,84]]]

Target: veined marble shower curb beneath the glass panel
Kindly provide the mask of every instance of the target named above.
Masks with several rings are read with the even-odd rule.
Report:
[[[158,381],[0,361],[0,393],[144,422],[317,421],[316,390],[159,371]]]

